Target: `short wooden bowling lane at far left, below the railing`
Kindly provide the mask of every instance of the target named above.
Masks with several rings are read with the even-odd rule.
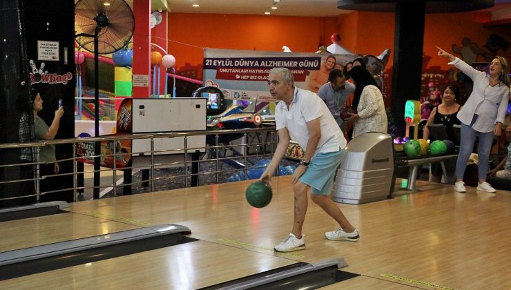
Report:
[[[0,222],[0,252],[138,228],[139,226],[133,224],[80,213],[60,213]]]

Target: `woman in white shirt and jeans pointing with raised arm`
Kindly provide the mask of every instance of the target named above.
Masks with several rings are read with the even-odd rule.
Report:
[[[476,190],[494,193],[495,189],[486,182],[486,173],[488,173],[488,160],[494,136],[501,135],[505,111],[508,108],[510,95],[508,61],[504,57],[494,57],[490,62],[490,73],[487,75],[486,72],[472,68],[465,61],[454,57],[438,46],[436,48],[438,48],[438,56],[449,59],[449,64],[459,68],[474,81],[472,94],[470,94],[457,115],[461,121],[461,140],[463,142],[460,144],[458,160],[456,161],[454,191],[459,193],[467,191],[463,183],[463,175],[467,167],[467,160],[474,148],[476,137],[479,136],[477,146],[479,184]]]

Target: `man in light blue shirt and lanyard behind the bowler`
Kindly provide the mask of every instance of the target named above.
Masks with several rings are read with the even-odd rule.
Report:
[[[330,71],[327,84],[318,90],[318,96],[325,101],[343,133],[346,133],[346,124],[340,117],[340,110],[345,106],[349,94],[354,91],[354,84],[347,83],[343,71],[336,68]]]

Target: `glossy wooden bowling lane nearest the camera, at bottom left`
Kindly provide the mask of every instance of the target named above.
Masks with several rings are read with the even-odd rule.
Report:
[[[0,281],[0,289],[197,289],[296,261],[197,241]],[[127,274],[128,273],[128,274]]]

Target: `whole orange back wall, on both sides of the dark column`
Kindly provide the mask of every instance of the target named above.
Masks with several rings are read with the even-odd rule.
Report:
[[[331,44],[338,32],[345,48],[361,55],[379,55],[385,48],[394,53],[394,13],[351,12],[338,17],[275,17],[234,14],[168,14],[168,52],[175,56],[176,67],[185,63],[202,64],[202,48],[315,52],[320,44]],[[509,26],[484,26],[488,14],[461,12],[427,14],[424,54],[432,56],[428,66],[447,69],[445,59],[436,56],[436,46],[451,50],[469,37],[479,48],[492,33],[507,37]],[[511,59],[511,48],[499,55]],[[477,61],[484,61],[479,57]],[[387,69],[392,67],[392,55]]]

